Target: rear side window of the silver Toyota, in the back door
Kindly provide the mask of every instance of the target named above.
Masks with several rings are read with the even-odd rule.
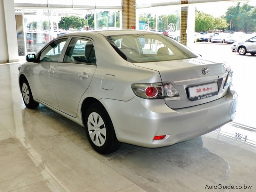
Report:
[[[92,41],[82,38],[72,38],[68,45],[63,62],[96,64]]]

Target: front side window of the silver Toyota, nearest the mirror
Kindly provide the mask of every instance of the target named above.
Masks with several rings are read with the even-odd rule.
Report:
[[[68,38],[58,39],[50,43],[40,55],[40,61],[58,61]]]

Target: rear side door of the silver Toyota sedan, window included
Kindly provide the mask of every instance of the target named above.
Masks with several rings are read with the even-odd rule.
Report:
[[[76,117],[79,101],[96,70],[92,40],[73,37],[55,73],[55,92],[60,111]]]

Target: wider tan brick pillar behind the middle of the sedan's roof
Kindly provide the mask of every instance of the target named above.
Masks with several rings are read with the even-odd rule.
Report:
[[[136,27],[136,0],[123,0],[123,29]]]

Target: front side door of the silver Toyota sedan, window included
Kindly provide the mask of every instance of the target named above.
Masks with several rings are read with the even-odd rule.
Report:
[[[35,98],[53,108],[59,109],[54,91],[54,76],[61,52],[68,38],[53,41],[39,53],[31,76]]]

